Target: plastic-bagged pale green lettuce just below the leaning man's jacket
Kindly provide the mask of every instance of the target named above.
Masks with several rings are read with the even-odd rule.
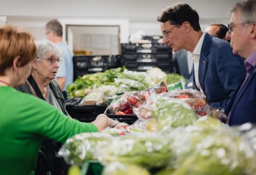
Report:
[[[160,129],[188,126],[198,118],[188,103],[168,97],[159,98],[151,110]]]

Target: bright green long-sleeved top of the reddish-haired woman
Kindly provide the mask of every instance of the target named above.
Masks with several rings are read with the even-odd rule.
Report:
[[[0,174],[34,174],[43,137],[65,142],[81,132],[97,132],[33,95],[0,86]]]

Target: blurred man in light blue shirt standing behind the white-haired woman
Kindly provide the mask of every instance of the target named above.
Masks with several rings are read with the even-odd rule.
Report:
[[[73,56],[74,53],[69,49],[67,42],[63,41],[63,27],[56,19],[50,20],[45,25],[45,35],[47,40],[54,42],[61,49],[62,63],[56,75],[58,84],[62,90],[65,100],[67,100],[67,86],[73,82]]]

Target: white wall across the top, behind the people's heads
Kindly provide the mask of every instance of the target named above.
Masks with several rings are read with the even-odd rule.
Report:
[[[45,39],[44,25],[50,19],[60,19],[64,24],[91,24],[105,22],[124,24],[120,29],[121,42],[129,34],[143,30],[148,35],[160,35],[157,15],[174,3],[188,3],[200,15],[204,30],[213,22],[228,24],[227,11],[239,0],[1,0],[0,16],[15,26],[25,27],[36,40]],[[116,21],[116,22],[115,22]],[[127,26],[128,25],[128,26]]]

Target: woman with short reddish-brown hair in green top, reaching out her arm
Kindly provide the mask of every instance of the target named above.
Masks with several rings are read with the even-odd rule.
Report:
[[[30,63],[36,56],[36,44],[30,34],[11,26],[0,28],[0,174],[34,174],[43,137],[65,142],[77,133],[97,132],[115,125],[104,114],[92,123],[81,123],[49,103],[17,91],[15,87],[28,79]],[[48,59],[43,61],[48,63]]]

